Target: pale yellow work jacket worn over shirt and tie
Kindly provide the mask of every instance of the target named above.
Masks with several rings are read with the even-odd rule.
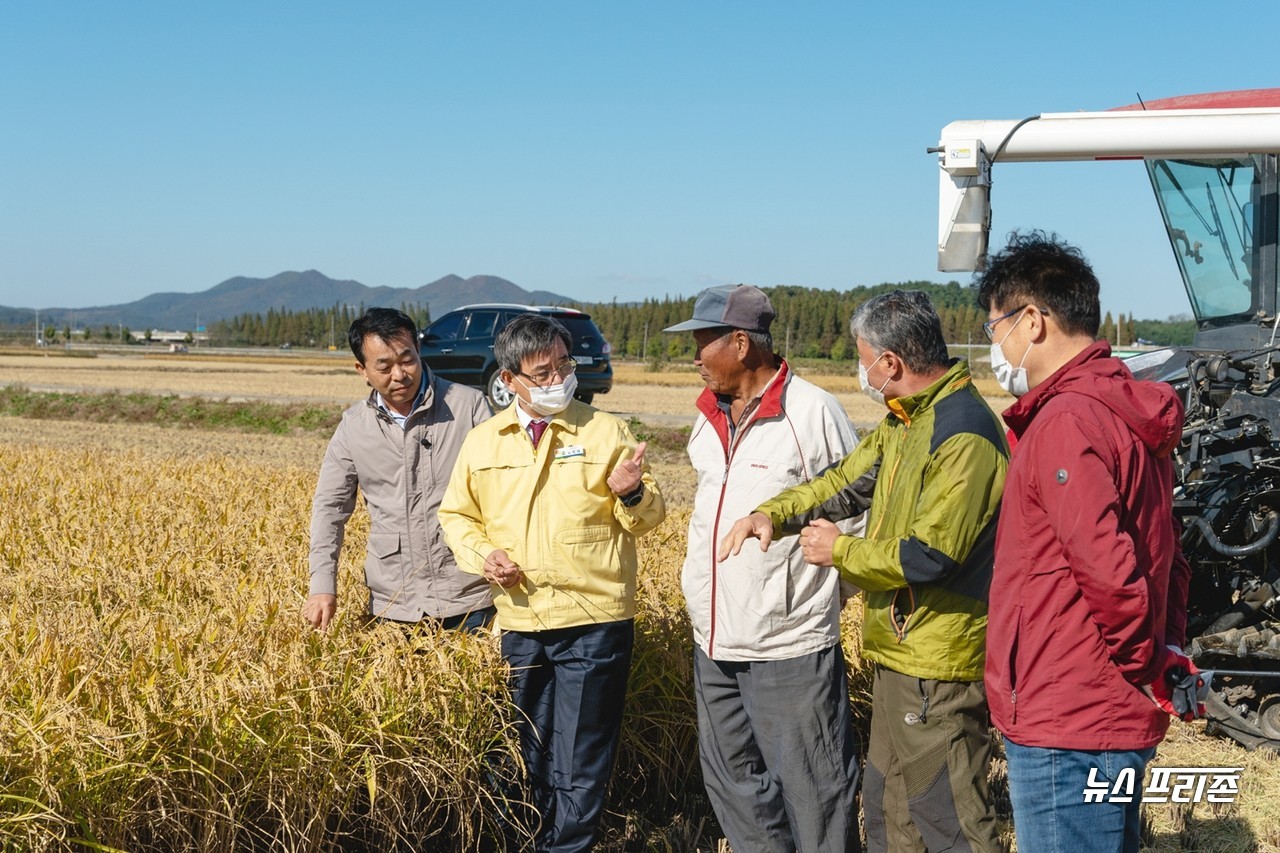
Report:
[[[467,434],[444,492],[440,528],[458,567],[483,574],[498,548],[521,567],[520,584],[493,587],[503,630],[631,619],[635,537],[666,516],[648,466],[636,506],[622,506],[608,487],[636,439],[621,419],[575,400],[552,418],[535,451],[517,405]]]

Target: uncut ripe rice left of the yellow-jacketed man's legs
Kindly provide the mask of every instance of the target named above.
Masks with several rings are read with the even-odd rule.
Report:
[[[302,629],[308,471],[12,444],[0,471],[6,848],[468,843],[497,813],[492,643]]]

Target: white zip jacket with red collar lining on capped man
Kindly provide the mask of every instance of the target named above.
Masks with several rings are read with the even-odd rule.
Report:
[[[829,648],[840,640],[840,575],[806,564],[799,537],[774,539],[767,552],[748,540],[719,564],[716,551],[736,520],[854,450],[849,416],[785,361],[748,403],[736,432],[709,389],[698,409],[689,438],[698,493],[682,574],[694,642],[718,661],[786,660]],[[841,528],[849,532],[852,521]]]

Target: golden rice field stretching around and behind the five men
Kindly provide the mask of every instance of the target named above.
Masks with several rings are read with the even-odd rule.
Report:
[[[342,405],[364,394],[348,361],[0,356],[0,386]],[[699,391],[689,373],[618,374],[605,409],[677,415]],[[860,402],[851,378],[815,380]],[[494,844],[515,772],[495,640],[364,628],[360,512],[339,622],[321,634],[301,620],[325,441],[0,418],[0,848]],[[641,540],[636,660],[600,849],[726,849],[701,799],[678,588],[692,476],[678,452],[653,461],[673,510]],[[1280,850],[1274,754],[1175,724],[1155,763],[1244,770],[1234,804],[1146,807],[1147,849]],[[993,780],[1004,790],[1001,762]]]

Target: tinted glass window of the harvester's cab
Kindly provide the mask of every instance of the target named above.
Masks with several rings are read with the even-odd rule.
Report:
[[[1254,158],[1148,160],[1147,172],[1196,319],[1220,325],[1262,307],[1253,292],[1262,207]]]

